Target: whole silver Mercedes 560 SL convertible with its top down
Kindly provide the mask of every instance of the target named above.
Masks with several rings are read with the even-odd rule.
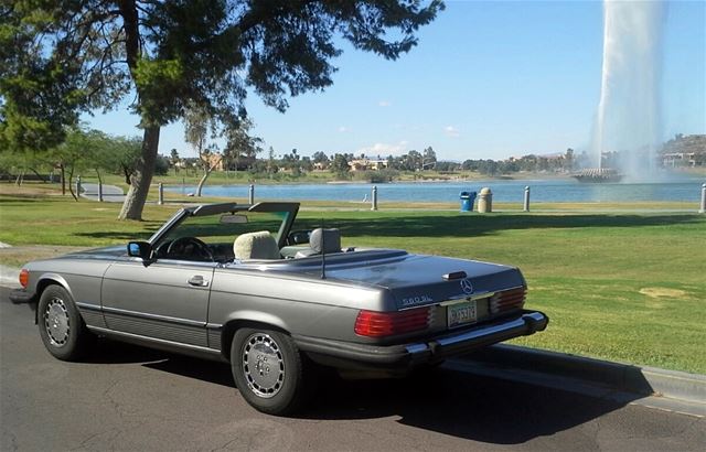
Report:
[[[182,208],[147,241],[28,263],[14,302],[38,303],[49,352],[92,340],[231,364],[256,409],[292,412],[322,366],[404,376],[546,327],[513,267],[342,248],[335,228],[293,230],[298,203]]]

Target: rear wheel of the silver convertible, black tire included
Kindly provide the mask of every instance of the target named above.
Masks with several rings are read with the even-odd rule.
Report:
[[[243,398],[259,411],[288,415],[306,399],[304,363],[284,333],[238,330],[233,336],[231,367]]]

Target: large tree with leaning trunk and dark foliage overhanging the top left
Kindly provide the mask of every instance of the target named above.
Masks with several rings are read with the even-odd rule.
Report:
[[[249,89],[284,111],[287,96],[333,83],[336,36],[395,60],[442,9],[441,0],[3,2],[0,133],[49,149],[81,111],[133,97],[142,150],[120,218],[139,219],[160,128],[188,106],[227,125],[245,116]]]

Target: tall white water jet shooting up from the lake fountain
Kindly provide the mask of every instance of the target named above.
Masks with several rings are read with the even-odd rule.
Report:
[[[661,143],[662,1],[603,1],[603,61],[592,138],[581,182],[653,179]],[[620,151],[608,168],[603,153]]]

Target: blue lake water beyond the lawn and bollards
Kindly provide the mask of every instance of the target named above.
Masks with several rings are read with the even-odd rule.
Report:
[[[532,202],[640,202],[682,201],[698,203],[700,179],[688,179],[660,183],[610,183],[586,184],[574,180],[523,180],[523,181],[469,181],[469,182],[418,182],[376,184],[381,202],[443,202],[459,201],[461,191],[480,192],[488,186],[493,201],[522,203],[524,187],[531,187]],[[280,184],[255,185],[256,200],[292,201],[363,201],[370,200],[374,184]],[[176,193],[194,193],[195,186],[165,189]],[[248,185],[206,185],[204,196],[245,197]]]

